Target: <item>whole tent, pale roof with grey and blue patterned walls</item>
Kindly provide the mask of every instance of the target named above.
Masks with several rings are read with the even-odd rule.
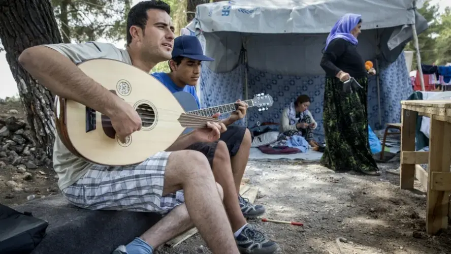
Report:
[[[400,121],[399,101],[412,90],[401,53],[412,40],[412,24],[418,34],[428,27],[413,0],[237,0],[199,5],[187,28],[215,59],[203,63],[197,89],[202,106],[249,99],[265,91],[275,97],[274,106],[250,113],[248,124],[256,119],[278,122],[283,107],[306,93],[321,125],[325,73],[319,62],[329,31],[346,13],[362,15],[358,51],[379,73],[370,80],[370,124],[377,130],[386,122]],[[321,126],[316,132],[321,135]]]

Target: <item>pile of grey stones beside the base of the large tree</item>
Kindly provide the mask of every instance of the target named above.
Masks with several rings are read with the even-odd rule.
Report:
[[[0,161],[13,166],[37,169],[52,162],[37,148],[28,124],[14,116],[0,118]]]

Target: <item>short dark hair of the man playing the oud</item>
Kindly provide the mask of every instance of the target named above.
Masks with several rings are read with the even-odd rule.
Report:
[[[144,31],[147,20],[149,19],[149,17],[147,17],[147,11],[150,9],[163,10],[168,14],[171,14],[171,7],[160,0],[142,1],[136,4],[132,7],[132,9],[130,9],[127,16],[127,45],[132,43],[130,27],[132,27],[132,25],[136,25]]]

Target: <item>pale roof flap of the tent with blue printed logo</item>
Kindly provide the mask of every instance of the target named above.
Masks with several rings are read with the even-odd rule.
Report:
[[[238,0],[199,5],[204,32],[329,33],[343,14],[362,15],[362,29],[414,24],[413,0]]]

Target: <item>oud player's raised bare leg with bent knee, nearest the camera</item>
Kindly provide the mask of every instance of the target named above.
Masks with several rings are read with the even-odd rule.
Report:
[[[163,196],[180,189],[184,190],[189,217],[211,251],[239,253],[221,198],[213,191],[216,184],[204,154],[192,150],[171,153],[165,169]]]

